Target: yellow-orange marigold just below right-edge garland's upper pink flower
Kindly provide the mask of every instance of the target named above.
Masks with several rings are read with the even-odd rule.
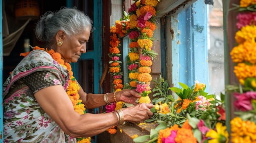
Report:
[[[255,42],[256,39],[256,26],[247,25],[243,26],[235,35],[236,42],[242,44],[245,41]]]

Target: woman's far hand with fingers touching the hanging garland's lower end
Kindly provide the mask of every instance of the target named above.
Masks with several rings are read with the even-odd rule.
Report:
[[[116,96],[117,99],[119,99],[119,101],[124,101],[126,103],[131,103],[133,105],[137,105],[138,103],[136,102],[136,100],[139,97],[141,97],[141,95],[138,92],[130,89],[124,89],[119,92],[116,92]]]

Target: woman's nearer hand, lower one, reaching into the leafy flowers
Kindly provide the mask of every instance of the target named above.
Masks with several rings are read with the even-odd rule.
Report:
[[[153,107],[154,105],[150,103],[140,103],[136,106],[122,108],[121,110],[124,113],[124,121],[143,123],[146,119],[153,116],[153,113],[150,111]]]

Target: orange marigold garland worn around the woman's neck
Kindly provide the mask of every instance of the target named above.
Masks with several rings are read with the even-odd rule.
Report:
[[[35,46],[33,48],[33,50],[43,50],[46,51],[47,53],[49,53],[49,55],[52,56],[52,58],[58,62],[61,66],[63,66],[64,68],[66,68],[69,73],[70,73],[70,80],[69,80],[69,86],[67,87],[66,93],[68,95],[68,97],[70,98],[73,106],[74,106],[74,110],[76,112],[78,112],[79,114],[85,114],[85,105],[82,103],[82,100],[80,99],[80,96],[78,94],[78,91],[80,89],[79,84],[76,84],[76,79],[73,76],[73,72],[72,72],[72,68],[71,65],[68,62],[65,62],[63,59],[61,59],[61,54],[54,52],[54,50],[47,50],[47,48],[40,48],[38,46]],[[21,53],[21,56],[26,57],[30,52],[27,53]],[[90,143],[91,138],[84,138],[84,137],[79,137],[76,138],[77,143]]]

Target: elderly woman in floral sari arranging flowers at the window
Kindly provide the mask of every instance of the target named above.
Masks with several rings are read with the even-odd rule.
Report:
[[[124,121],[144,122],[153,104],[137,104],[133,90],[85,93],[69,63],[86,52],[92,21],[76,8],[47,12],[36,24],[36,37],[47,48],[23,54],[3,85],[4,142],[76,143]],[[105,114],[85,113],[117,101],[135,106]]]

